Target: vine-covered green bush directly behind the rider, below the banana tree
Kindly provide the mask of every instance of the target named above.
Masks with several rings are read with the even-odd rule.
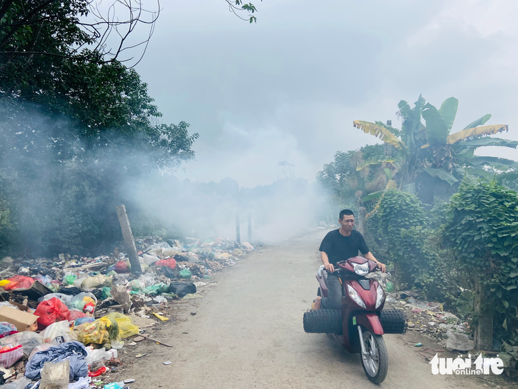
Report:
[[[394,266],[398,289],[417,287],[429,300],[453,305],[461,278],[451,252],[441,246],[442,230],[429,228],[443,214],[433,209],[427,216],[417,197],[388,190],[367,218],[366,239],[379,261]]]

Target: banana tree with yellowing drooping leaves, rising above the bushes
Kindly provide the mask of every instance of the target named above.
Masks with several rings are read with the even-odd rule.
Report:
[[[509,130],[506,124],[484,126],[491,118],[490,114],[471,122],[461,131],[451,133],[458,109],[458,99],[455,97],[446,99],[439,109],[427,103],[422,96],[419,96],[414,107],[402,100],[398,108],[397,116],[402,119],[401,130],[368,121],[354,121],[353,126],[397,150],[392,158],[380,156],[377,159],[378,163],[392,165],[392,175],[398,182],[399,190],[417,193],[422,201],[431,204],[434,195],[440,192],[449,197],[467,168],[473,171],[486,171],[487,167],[518,170],[514,161],[509,163],[509,160],[502,158],[475,156],[475,150],[483,146],[518,146],[518,141],[490,137]],[[369,162],[375,161],[376,158],[371,158]],[[360,165],[358,170],[364,167]]]

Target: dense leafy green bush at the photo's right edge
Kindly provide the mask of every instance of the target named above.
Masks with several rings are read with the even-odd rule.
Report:
[[[460,268],[484,286],[483,305],[495,310],[494,333],[518,346],[517,193],[497,182],[465,179],[451,197],[444,236]],[[511,352],[512,370],[518,349]]]

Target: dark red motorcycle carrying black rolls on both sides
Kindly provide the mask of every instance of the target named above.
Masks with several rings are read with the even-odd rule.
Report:
[[[342,285],[341,309],[312,309],[304,313],[304,331],[325,333],[353,354],[361,354],[367,378],[376,384],[387,376],[388,354],[384,334],[407,331],[407,317],[398,310],[383,311],[385,291],[373,278],[366,278],[378,265],[363,257],[336,264]],[[317,295],[328,296],[327,272],[321,265],[316,275]]]

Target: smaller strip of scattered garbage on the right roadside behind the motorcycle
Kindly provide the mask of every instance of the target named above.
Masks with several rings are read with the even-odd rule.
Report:
[[[458,314],[446,312],[441,302],[429,302],[417,290],[394,291],[390,273],[370,275],[380,282],[387,297],[385,309],[402,309],[407,314],[409,331],[419,332],[448,351],[470,351],[475,348],[470,325]]]

